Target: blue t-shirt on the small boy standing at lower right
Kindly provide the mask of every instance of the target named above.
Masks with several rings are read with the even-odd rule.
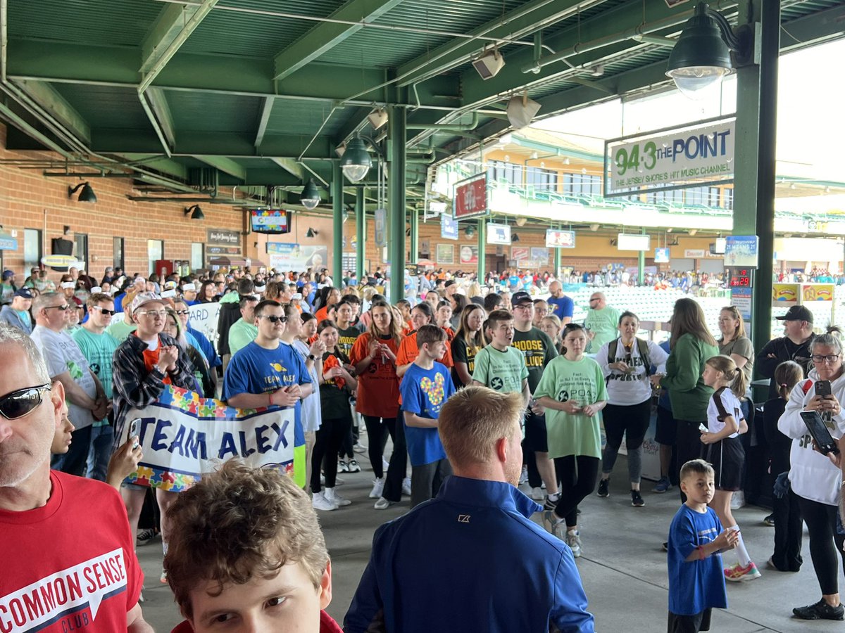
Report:
[[[686,560],[696,547],[710,543],[722,533],[722,523],[712,508],[696,512],[684,504],[669,527],[669,612],[700,614],[704,609],[728,609],[722,555]]]

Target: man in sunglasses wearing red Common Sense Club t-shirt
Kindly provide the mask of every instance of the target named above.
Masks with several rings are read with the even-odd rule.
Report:
[[[51,385],[35,344],[5,323],[0,355],[0,630],[150,633],[120,498],[106,484],[50,469],[62,383]],[[57,592],[78,592],[72,609],[52,599]]]

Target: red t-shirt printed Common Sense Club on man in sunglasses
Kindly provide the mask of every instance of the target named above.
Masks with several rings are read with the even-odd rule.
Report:
[[[0,631],[126,630],[144,574],[111,486],[50,472],[35,510],[0,510]]]

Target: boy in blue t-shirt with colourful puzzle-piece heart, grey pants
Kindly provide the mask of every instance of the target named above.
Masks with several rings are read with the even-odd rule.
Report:
[[[446,333],[435,325],[417,330],[419,355],[402,376],[401,410],[411,457],[411,507],[432,499],[452,473],[437,430],[440,408],[455,392],[450,371],[438,361],[446,352]]]

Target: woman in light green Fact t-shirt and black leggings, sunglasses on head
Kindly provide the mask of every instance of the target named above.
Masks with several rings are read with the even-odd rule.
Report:
[[[561,479],[560,500],[542,513],[548,531],[564,539],[572,555],[581,556],[578,504],[596,489],[602,457],[599,411],[607,404],[604,373],[584,355],[586,333],[577,323],[564,327],[563,355],[546,365],[534,392],[546,408],[548,456]],[[565,522],[565,535],[564,532]]]

